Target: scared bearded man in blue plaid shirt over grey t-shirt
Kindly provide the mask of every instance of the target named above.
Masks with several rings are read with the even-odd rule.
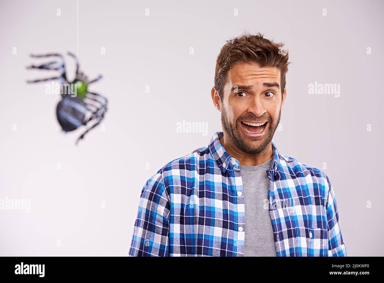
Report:
[[[228,40],[211,96],[223,132],[142,188],[129,256],[346,256],[333,187],[272,140],[288,52],[263,35]]]

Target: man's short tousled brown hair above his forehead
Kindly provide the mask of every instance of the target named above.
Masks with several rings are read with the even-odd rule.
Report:
[[[285,88],[285,74],[288,72],[288,50],[283,43],[275,43],[263,37],[244,32],[239,37],[227,40],[216,60],[215,87],[223,99],[223,88],[227,83],[228,71],[237,62],[257,63],[260,67],[278,67],[280,69],[281,94]]]

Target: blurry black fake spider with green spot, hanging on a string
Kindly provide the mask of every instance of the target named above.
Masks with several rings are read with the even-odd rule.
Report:
[[[60,80],[61,101],[56,107],[57,120],[64,132],[76,130],[80,126],[85,126],[89,122],[94,122],[91,127],[76,140],[84,138],[84,135],[96,127],[104,118],[107,112],[108,100],[104,96],[88,91],[90,83],[97,82],[102,77],[88,81],[88,77],[83,72],[79,72],[79,61],[75,55],[68,52],[68,55],[76,61],[76,78],[69,83],[65,72],[65,61],[63,55],[59,53],[49,53],[44,55],[31,55],[33,58],[53,57],[56,60],[42,64],[30,65],[27,69],[55,70],[59,71],[58,77],[43,78],[38,80],[29,80],[28,83],[46,82],[50,80]],[[75,95],[73,95],[75,94]]]

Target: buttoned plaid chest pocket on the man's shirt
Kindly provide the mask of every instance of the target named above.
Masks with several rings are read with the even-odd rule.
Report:
[[[296,256],[328,256],[328,230],[306,226],[295,227]]]

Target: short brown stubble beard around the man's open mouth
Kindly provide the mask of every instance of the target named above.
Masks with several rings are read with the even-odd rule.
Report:
[[[265,150],[266,146],[271,142],[273,135],[275,134],[276,128],[279,125],[281,116],[281,105],[279,111],[279,118],[276,123],[273,123],[271,117],[268,117],[268,129],[267,132],[258,140],[245,140],[242,130],[238,128],[238,120],[235,124],[235,128],[232,123],[227,120],[227,113],[225,112],[225,107],[222,107],[221,113],[221,124],[223,131],[227,134],[227,137],[230,138],[233,145],[235,145],[238,149],[242,150],[248,154],[259,154],[263,150]],[[241,126],[240,126],[241,127]]]

